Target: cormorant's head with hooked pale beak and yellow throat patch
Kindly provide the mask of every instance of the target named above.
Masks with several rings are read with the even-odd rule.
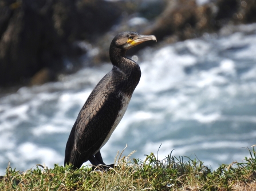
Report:
[[[112,40],[111,45],[124,49],[125,51],[129,48],[136,46],[137,44],[143,43],[148,40],[156,40],[154,35],[141,35],[137,32],[120,32]]]

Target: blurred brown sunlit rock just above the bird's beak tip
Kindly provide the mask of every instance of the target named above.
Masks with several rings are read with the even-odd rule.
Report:
[[[179,40],[194,38],[202,31],[214,31],[211,5],[196,5],[195,1],[171,1],[166,10],[156,19],[155,25],[144,31],[154,34],[157,40],[175,35]],[[176,38],[175,38],[176,39]]]

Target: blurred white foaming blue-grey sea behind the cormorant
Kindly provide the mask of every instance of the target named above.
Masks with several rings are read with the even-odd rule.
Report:
[[[101,149],[124,155],[188,156],[212,168],[241,161],[256,144],[256,26],[208,35],[138,54],[141,80],[127,112]],[[84,68],[60,82],[22,87],[0,98],[0,174],[10,161],[26,170],[64,164],[77,114],[111,64]],[[86,163],[89,164],[89,163]]]

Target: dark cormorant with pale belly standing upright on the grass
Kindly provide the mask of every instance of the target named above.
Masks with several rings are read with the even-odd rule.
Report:
[[[77,116],[66,143],[65,165],[70,162],[80,168],[89,160],[104,169],[113,167],[104,164],[100,149],[122,119],[141,75],[139,65],[126,58],[125,52],[147,40],[156,37],[125,31],[112,40],[109,56],[113,68],[93,89]]]

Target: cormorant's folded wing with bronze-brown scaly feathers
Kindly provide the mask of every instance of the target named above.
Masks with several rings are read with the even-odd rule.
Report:
[[[113,86],[112,72],[104,76],[89,95],[76,121],[73,150],[90,156],[100,148],[121,107],[121,100]],[[72,153],[71,156],[72,157]],[[88,159],[87,159],[88,160]]]

